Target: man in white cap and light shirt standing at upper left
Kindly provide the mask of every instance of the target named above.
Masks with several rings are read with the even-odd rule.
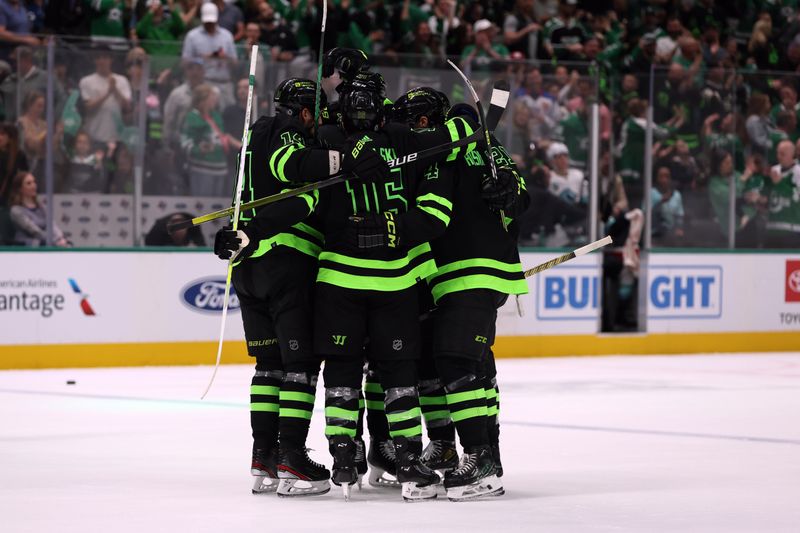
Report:
[[[206,82],[219,89],[219,103],[225,107],[235,101],[231,81],[231,68],[236,63],[233,35],[219,26],[219,9],[213,2],[200,8],[200,21],[202,26],[186,34],[181,56],[187,60],[203,60]]]

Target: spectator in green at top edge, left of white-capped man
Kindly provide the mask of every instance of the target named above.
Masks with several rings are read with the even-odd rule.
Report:
[[[180,55],[180,40],[186,32],[186,24],[174,0],[168,0],[169,17],[164,16],[161,0],[147,0],[145,5],[147,12],[136,24],[136,35],[141,47],[151,57],[150,68],[155,75],[175,64],[176,56]]]

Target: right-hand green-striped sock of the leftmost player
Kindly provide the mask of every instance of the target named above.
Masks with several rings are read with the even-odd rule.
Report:
[[[280,393],[280,445],[286,450],[302,450],[308,437],[317,374],[286,372]]]

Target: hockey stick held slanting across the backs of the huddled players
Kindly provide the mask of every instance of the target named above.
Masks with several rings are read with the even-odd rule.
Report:
[[[441,154],[443,152],[449,152],[454,148],[460,148],[462,146],[466,146],[468,144],[474,143],[475,141],[480,140],[482,137],[482,132],[480,129],[473,133],[468,137],[464,137],[463,139],[459,139],[456,142],[447,143],[447,144],[440,144],[439,146],[433,146],[431,148],[426,148],[424,150],[420,150],[419,152],[414,152],[411,154],[406,154],[402,157],[398,157],[397,159],[392,159],[387,161],[386,164],[389,167],[399,167],[403,166],[406,163],[411,163],[418,159],[423,159],[426,157],[431,157],[434,155]],[[304,194],[307,192],[316,191],[319,189],[324,189],[325,187],[330,187],[331,185],[336,185],[337,183],[342,183],[350,179],[349,176],[346,174],[339,174],[336,176],[332,176],[330,178],[324,179],[322,181],[316,181],[314,183],[307,183],[306,185],[301,185],[295,189],[290,189],[288,191],[284,191],[278,194],[273,194],[271,196],[265,196],[264,198],[258,198],[257,200],[253,200],[251,202],[247,202],[241,205],[241,209],[248,210],[248,209],[255,209],[256,207],[262,207],[268,204],[272,204],[278,202],[280,200],[285,200],[287,198],[293,198],[300,194]],[[167,232],[172,233],[173,231],[191,228],[192,226],[198,226],[205,222],[210,222],[211,220],[216,220],[218,218],[228,217],[233,214],[234,208],[228,207],[226,209],[220,209],[219,211],[214,211],[213,213],[208,213],[206,215],[201,215],[199,217],[194,217],[191,220],[181,220],[180,222],[175,222],[169,224],[167,226]]]

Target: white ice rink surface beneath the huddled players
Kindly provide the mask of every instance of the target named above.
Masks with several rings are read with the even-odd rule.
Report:
[[[0,372],[0,531],[800,531],[800,354],[498,370],[506,495],[415,504],[251,495],[249,366]]]

